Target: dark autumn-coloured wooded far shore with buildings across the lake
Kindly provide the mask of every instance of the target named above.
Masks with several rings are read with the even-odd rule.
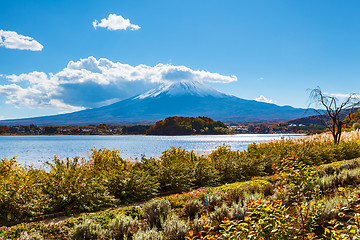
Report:
[[[360,111],[352,114],[346,128],[360,128]],[[94,125],[0,125],[0,135],[205,135],[205,134],[281,134],[317,133],[326,128],[319,116],[294,119],[287,122],[229,122],[208,117],[168,117],[151,124],[94,124]]]

